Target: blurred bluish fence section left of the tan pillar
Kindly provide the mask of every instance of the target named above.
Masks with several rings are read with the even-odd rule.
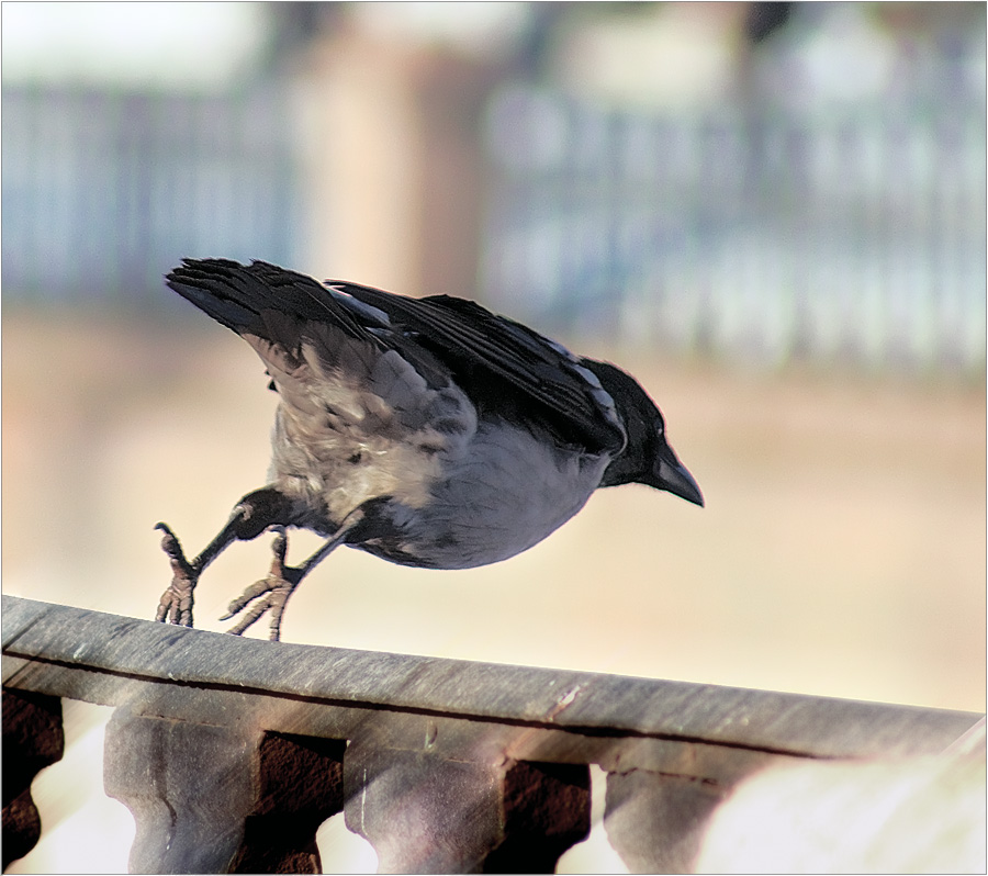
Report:
[[[2,101],[7,302],[157,305],[182,256],[292,261],[292,120],[277,86],[19,86]]]

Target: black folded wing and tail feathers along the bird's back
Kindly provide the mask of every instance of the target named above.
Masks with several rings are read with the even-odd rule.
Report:
[[[335,280],[323,285],[263,261],[184,259],[167,282],[278,368],[284,356],[302,356],[303,341],[332,363],[349,338],[359,342],[347,344],[347,355],[394,349],[427,380],[441,364],[480,411],[538,424],[563,443],[590,452],[625,445],[610,396],[577,357],[473,302],[411,299]]]

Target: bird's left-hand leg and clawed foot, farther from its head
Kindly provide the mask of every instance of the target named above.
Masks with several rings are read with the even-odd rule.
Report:
[[[192,592],[203,570],[237,539],[257,538],[269,526],[288,523],[289,510],[288,499],[272,487],[248,493],[234,506],[226,526],[191,563],[171,528],[167,524],[157,524],[155,529],[165,534],[161,549],[171,563],[171,583],[161,594],[155,620],[191,627]]]

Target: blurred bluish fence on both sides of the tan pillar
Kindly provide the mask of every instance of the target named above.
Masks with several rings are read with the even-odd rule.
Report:
[[[168,307],[183,256],[295,262],[285,90],[4,88],[4,301]],[[983,102],[662,117],[512,86],[483,137],[498,311],[664,349],[984,369]]]

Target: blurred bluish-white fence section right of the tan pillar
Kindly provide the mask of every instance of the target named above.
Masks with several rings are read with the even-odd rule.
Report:
[[[978,370],[985,108],[659,117],[492,102],[482,288],[544,329]]]

